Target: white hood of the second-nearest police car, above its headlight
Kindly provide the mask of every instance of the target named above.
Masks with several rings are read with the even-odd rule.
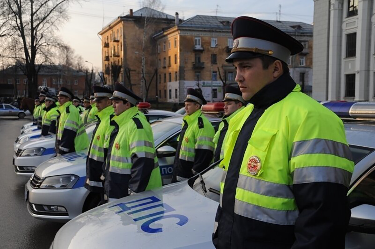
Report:
[[[35,170],[39,177],[58,176],[62,174],[75,174],[86,177],[87,151],[72,152],[45,161]]]

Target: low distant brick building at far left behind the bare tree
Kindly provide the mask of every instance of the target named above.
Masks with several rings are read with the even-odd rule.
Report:
[[[57,92],[61,86],[70,89],[78,97],[82,97],[85,89],[86,74],[61,65],[43,65],[38,73],[38,86],[47,86],[49,91]],[[27,78],[15,66],[0,71],[0,84],[13,85],[14,97],[28,96]]]

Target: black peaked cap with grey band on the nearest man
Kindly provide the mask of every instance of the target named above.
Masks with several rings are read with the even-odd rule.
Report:
[[[234,59],[268,55],[288,63],[290,55],[298,54],[303,45],[278,28],[249,16],[240,16],[232,23],[233,49],[228,63]]]

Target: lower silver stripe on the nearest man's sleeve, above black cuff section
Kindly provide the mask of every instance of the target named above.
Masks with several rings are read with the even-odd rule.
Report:
[[[329,166],[310,166],[296,168],[292,172],[293,184],[310,182],[333,182],[346,187],[350,185],[352,173],[342,168]]]

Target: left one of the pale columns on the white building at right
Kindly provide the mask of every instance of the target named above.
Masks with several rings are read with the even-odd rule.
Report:
[[[330,6],[328,100],[340,100],[342,0],[332,0]]]

